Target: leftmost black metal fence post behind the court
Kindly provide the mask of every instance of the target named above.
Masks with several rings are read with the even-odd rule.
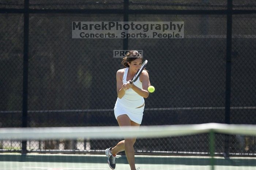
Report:
[[[29,71],[29,0],[24,0],[24,38],[23,38],[23,95],[22,127],[27,127],[27,92]],[[22,154],[27,153],[27,141],[22,140]]]

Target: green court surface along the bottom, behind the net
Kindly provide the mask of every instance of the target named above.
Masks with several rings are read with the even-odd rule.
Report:
[[[125,156],[118,158],[116,170],[129,170]],[[210,157],[135,156],[139,170],[210,170]],[[215,170],[255,170],[256,158],[235,157],[214,159]],[[1,170],[105,170],[105,155],[67,154],[0,154]]]

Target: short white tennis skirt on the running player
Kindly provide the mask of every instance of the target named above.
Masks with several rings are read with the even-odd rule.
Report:
[[[115,105],[114,114],[116,119],[120,115],[127,115],[135,123],[141,124],[144,107],[145,105],[141,108],[127,108],[120,105]]]

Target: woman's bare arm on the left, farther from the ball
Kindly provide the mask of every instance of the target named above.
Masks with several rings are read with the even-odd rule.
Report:
[[[120,69],[116,73],[116,90],[118,98],[122,98],[125,94],[125,91],[128,89],[127,85],[123,84],[123,75],[124,69]]]

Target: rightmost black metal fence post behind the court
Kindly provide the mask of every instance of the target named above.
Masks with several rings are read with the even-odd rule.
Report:
[[[226,39],[226,99],[225,99],[225,123],[230,124],[230,96],[231,96],[231,51],[232,51],[232,3],[227,0],[227,39]],[[225,135],[223,156],[229,157],[229,135]]]

